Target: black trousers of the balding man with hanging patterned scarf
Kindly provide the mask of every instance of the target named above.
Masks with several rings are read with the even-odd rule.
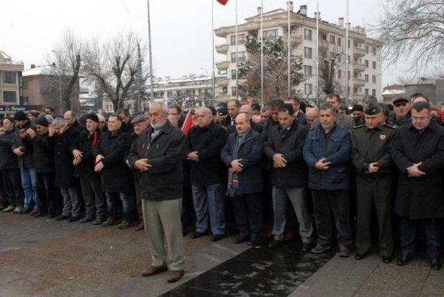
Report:
[[[234,221],[239,237],[259,240],[262,235],[262,192],[234,197]]]

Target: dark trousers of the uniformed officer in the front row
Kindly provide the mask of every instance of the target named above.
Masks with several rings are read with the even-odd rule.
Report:
[[[393,254],[391,226],[391,177],[356,177],[357,186],[357,253],[367,253],[371,246],[371,218],[373,206],[379,228],[379,251]]]

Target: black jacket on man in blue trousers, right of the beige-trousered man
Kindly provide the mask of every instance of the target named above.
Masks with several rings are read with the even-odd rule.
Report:
[[[207,127],[192,127],[185,138],[185,157],[198,152],[199,161],[189,161],[191,183],[195,186],[211,186],[225,180],[227,169],[221,160],[221,150],[227,136],[225,130],[211,123]]]

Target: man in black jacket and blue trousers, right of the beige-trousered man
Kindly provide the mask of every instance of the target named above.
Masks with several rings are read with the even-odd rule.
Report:
[[[196,231],[191,237],[207,233],[210,222],[212,241],[225,235],[225,165],[221,150],[225,131],[214,123],[212,111],[197,111],[198,126],[192,127],[185,139],[185,156],[191,163],[191,189],[196,210]]]

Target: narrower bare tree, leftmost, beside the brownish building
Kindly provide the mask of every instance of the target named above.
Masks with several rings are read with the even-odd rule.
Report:
[[[78,78],[83,56],[83,42],[71,29],[65,30],[59,44],[46,57],[45,89],[58,90],[61,102],[55,102],[60,114],[71,109],[71,98],[79,91]]]

